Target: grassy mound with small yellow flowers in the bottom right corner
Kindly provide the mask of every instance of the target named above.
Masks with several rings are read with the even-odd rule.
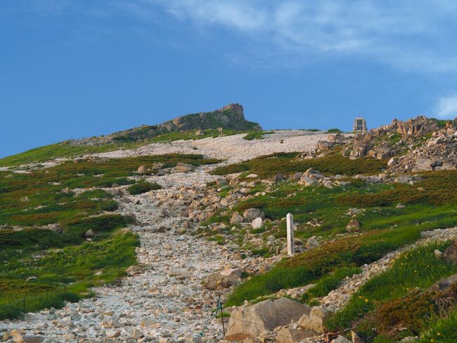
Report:
[[[427,289],[438,280],[457,273],[456,265],[436,258],[433,253],[448,245],[429,244],[399,256],[390,269],[368,280],[345,308],[328,320],[328,329],[343,330],[359,323],[359,331],[368,340],[373,339],[373,330],[399,335],[406,327],[417,335],[428,325],[423,313],[432,311],[433,306],[427,294],[418,294],[416,289]],[[425,311],[419,311],[420,306],[425,306]],[[387,310],[385,314],[380,313],[383,308]],[[368,320],[369,330],[363,330],[365,325],[361,319]],[[396,325],[400,325],[401,330],[395,330]]]

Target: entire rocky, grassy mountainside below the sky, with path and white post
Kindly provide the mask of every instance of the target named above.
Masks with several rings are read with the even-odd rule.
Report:
[[[2,342],[456,342],[455,120],[79,144],[0,160]]]

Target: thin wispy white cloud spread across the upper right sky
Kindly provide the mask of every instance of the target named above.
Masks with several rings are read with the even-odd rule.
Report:
[[[452,28],[457,29],[452,27],[456,1],[139,0],[136,4],[143,11],[159,6],[195,27],[241,32],[288,61],[345,56],[401,70],[457,71],[453,58],[457,45],[451,35]]]

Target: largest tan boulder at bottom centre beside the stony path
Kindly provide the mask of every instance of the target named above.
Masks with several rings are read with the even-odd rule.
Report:
[[[309,313],[308,306],[288,298],[265,300],[232,311],[228,320],[226,339],[240,341],[264,335],[278,326],[290,324]]]

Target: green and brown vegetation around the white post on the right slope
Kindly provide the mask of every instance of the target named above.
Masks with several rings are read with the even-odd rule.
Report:
[[[234,210],[239,213],[246,208],[259,208],[266,218],[282,220],[280,225],[271,225],[258,232],[259,237],[285,237],[283,218],[291,212],[297,223],[296,237],[318,236],[322,244],[286,258],[268,273],[253,276],[235,289],[228,298],[228,306],[309,283],[316,283],[316,288],[305,294],[304,300],[320,297],[337,287],[342,278],[355,273],[357,267],[415,242],[420,232],[456,225],[457,189],[451,185],[457,182],[457,172],[437,171],[423,173],[421,177],[415,185],[373,185],[347,179],[352,185],[333,189],[298,188],[293,182],[283,182],[264,196],[238,204]],[[399,202],[405,208],[396,208]],[[361,210],[348,216],[349,208]],[[346,232],[345,226],[352,218],[361,223],[363,235]],[[228,223],[221,217],[218,220]],[[309,225],[309,222],[318,225]],[[243,237],[243,230],[231,231],[231,235]],[[271,250],[267,249],[267,253],[271,254]]]

